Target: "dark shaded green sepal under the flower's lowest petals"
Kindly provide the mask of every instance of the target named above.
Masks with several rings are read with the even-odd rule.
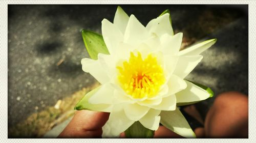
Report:
[[[126,138],[153,138],[155,131],[145,128],[139,121],[124,131]]]

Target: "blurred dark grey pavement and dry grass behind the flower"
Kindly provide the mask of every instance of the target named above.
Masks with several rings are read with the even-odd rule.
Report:
[[[248,5],[120,5],[145,26],[170,10],[182,49],[217,38],[186,78],[218,95],[248,95]],[[74,106],[98,82],[82,71],[88,58],[81,30],[101,33],[101,20],[113,21],[117,5],[8,5],[8,137],[55,137]],[[197,106],[202,116],[214,101]]]

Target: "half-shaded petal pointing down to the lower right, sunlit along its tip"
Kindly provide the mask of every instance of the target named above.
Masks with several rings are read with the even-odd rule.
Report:
[[[172,130],[184,137],[196,137],[179,108],[176,108],[174,111],[161,111],[160,116],[160,123],[169,130]]]

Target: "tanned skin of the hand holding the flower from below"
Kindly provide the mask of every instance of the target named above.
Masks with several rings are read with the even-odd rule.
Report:
[[[89,110],[75,112],[75,116],[68,126],[59,134],[58,138],[101,138],[102,126],[108,121],[110,113]],[[181,138],[182,136],[159,126],[154,138]],[[120,138],[125,138],[124,132]]]

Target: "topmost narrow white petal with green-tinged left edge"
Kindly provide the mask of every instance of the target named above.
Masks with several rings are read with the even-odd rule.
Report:
[[[114,24],[117,25],[122,34],[125,32],[128,20],[129,16],[118,6],[114,17]]]

